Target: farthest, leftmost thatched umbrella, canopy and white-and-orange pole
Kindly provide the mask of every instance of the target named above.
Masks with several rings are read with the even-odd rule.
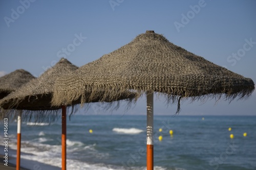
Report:
[[[34,76],[30,74],[30,72],[24,70],[24,69],[17,69],[13,72],[11,72],[8,75],[5,75],[0,78],[0,99],[3,99],[5,96],[7,96],[12,91],[17,90],[20,86],[24,85],[25,83],[29,82],[30,80],[35,79]],[[3,117],[6,114],[6,110],[2,109],[0,107],[0,114],[1,117]],[[19,166],[20,164],[20,115],[21,112],[19,112],[19,115],[17,117],[17,159],[16,164]]]

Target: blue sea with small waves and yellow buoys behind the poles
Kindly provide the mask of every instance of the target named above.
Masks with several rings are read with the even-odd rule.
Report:
[[[3,121],[0,125],[3,139]],[[17,123],[9,121],[9,156],[14,158],[16,131]],[[21,146],[21,165],[31,161],[60,169],[61,119],[23,122]],[[67,118],[67,169],[146,169],[146,115]],[[256,116],[154,116],[154,169],[256,169]]]

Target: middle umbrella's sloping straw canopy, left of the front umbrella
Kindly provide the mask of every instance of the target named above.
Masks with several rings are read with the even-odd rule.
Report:
[[[62,75],[73,72],[78,67],[67,59],[60,59],[52,68],[48,69],[37,79],[33,79],[16,91],[0,100],[0,106],[4,109],[23,110],[55,110],[60,107],[52,107],[51,99],[55,80]]]

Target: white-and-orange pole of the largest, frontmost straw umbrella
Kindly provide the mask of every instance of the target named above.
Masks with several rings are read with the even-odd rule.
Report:
[[[154,93],[146,93],[146,167],[147,170],[154,168]]]

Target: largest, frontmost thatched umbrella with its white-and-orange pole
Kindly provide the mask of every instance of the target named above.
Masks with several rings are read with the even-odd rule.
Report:
[[[251,79],[235,74],[169,42],[154,31],[138,35],[118,50],[84,66],[90,75],[61,77],[54,89],[53,104],[72,103],[90,91],[89,100],[121,94],[127,89],[137,98],[147,93],[147,169],[153,169],[153,92],[166,94],[168,102],[181,98],[205,99],[222,95],[244,98],[254,90]],[[100,90],[99,90],[100,89]]]

